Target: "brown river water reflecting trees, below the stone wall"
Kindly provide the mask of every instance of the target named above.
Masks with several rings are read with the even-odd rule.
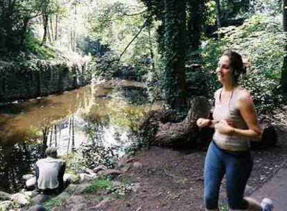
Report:
[[[0,190],[21,189],[46,146],[64,155],[92,142],[122,155],[137,119],[160,106],[146,101],[142,83],[118,81],[0,105]]]

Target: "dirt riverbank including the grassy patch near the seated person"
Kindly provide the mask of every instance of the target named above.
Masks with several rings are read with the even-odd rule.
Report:
[[[284,108],[273,117],[264,117],[272,118],[279,139],[272,149],[252,151],[254,169],[247,183],[246,196],[268,183],[286,163],[286,113]],[[124,164],[118,163],[111,179],[96,176],[88,183],[72,185],[72,191],[69,187],[58,198],[42,205],[56,211],[204,210],[202,173],[205,154],[202,149],[175,151],[152,146],[147,151],[122,159],[119,163]],[[91,174],[100,175],[101,172]],[[220,192],[221,210],[227,208],[224,189],[225,180]]]

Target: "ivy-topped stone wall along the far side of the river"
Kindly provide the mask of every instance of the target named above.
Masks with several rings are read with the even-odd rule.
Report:
[[[64,60],[0,61],[0,102],[61,93],[91,82],[87,63]]]

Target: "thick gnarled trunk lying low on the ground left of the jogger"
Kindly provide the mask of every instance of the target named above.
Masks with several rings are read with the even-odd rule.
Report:
[[[199,137],[196,126],[198,118],[208,118],[211,110],[209,101],[203,96],[196,96],[191,101],[191,108],[184,119],[179,123],[172,123],[166,112],[148,112],[139,121],[139,135],[149,144],[157,146],[194,146]]]

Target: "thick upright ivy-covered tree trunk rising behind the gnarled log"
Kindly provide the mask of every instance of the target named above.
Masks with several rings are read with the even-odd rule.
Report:
[[[185,53],[186,1],[165,1],[164,28],[164,92],[171,109],[186,109]]]

